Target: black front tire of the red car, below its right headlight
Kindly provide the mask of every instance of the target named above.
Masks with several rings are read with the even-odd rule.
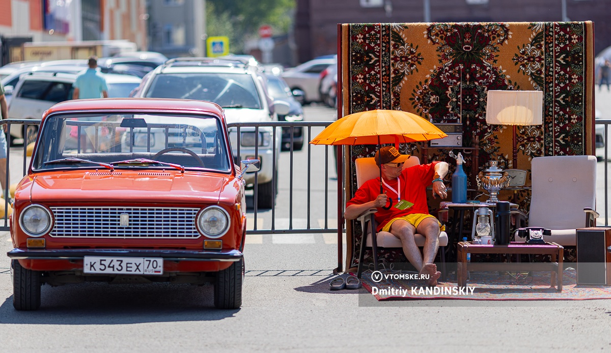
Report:
[[[237,309],[242,306],[242,285],[244,283],[244,258],[236,261],[216,274],[214,283],[214,307]]]

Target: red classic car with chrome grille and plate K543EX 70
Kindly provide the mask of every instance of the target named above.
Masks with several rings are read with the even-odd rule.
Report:
[[[214,283],[238,308],[244,276],[243,175],[221,107],[195,100],[102,99],[45,112],[10,218],[13,305],[40,286]]]

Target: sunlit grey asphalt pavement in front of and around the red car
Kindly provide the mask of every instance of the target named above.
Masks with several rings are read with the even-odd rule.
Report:
[[[323,113],[333,114],[305,108],[307,120],[321,120]],[[294,183],[303,187],[299,180]],[[282,212],[285,183],[281,177]],[[213,308],[211,286],[89,283],[43,286],[40,310],[19,312],[12,307],[9,260],[0,257],[0,349],[611,351],[611,300],[378,304],[364,289],[331,292],[333,240],[320,234],[249,236],[243,306],[229,311]],[[10,247],[8,234],[0,235],[0,253]]]

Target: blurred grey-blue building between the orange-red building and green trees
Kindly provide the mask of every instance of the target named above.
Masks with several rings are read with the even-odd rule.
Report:
[[[205,0],[148,1],[149,50],[167,57],[203,56]]]

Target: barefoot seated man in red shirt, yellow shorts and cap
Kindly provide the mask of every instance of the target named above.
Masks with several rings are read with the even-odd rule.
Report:
[[[441,224],[428,213],[426,187],[433,183],[433,197],[447,197],[442,179],[448,172],[446,162],[421,164],[403,170],[403,162],[409,155],[401,155],[397,148],[382,147],[376,152],[375,161],[382,169],[383,194],[379,194],[379,177],[365,181],[354,197],[346,204],[346,219],[356,219],[370,208],[378,208],[375,219],[377,231],[389,231],[401,239],[403,252],[409,262],[420,272],[428,274],[428,285],[437,285],[441,272],[433,263],[439,247]],[[390,209],[383,209],[392,198]],[[401,200],[414,205],[406,209],[397,208]],[[414,234],[425,236],[423,255],[415,244]]]

